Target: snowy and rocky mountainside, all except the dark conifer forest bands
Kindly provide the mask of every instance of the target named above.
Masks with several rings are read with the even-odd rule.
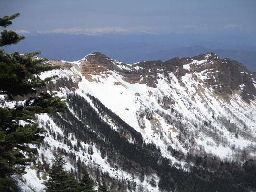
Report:
[[[214,53],[135,64],[123,64],[92,53],[75,62],[50,60],[50,63],[61,66],[40,76],[44,79],[58,75],[48,84],[50,91],[66,98],[67,94],[83,97],[104,122],[118,130],[110,117],[101,114],[88,94],[94,96],[141,133],[146,144],[155,144],[172,164],[178,163],[185,169],[186,162],[172,156],[170,146],[184,154],[213,154],[228,161],[256,158],[256,78],[239,63],[220,60]],[[234,71],[240,74],[238,82],[228,76]],[[68,110],[83,121],[70,106]],[[81,143],[83,149],[93,148],[94,153],[88,155],[54,139],[49,130],[61,136],[64,133],[49,115],[39,115],[38,121],[42,127],[50,127],[46,129],[45,143],[51,146],[38,149],[40,161],[41,154],[50,161],[54,157],[53,148],[61,146],[86,164],[108,172],[112,178],[137,183],[134,191],[139,190],[139,184],[149,191],[159,191],[157,175],[152,175],[157,183],[157,187],[152,187],[149,176],[141,181],[122,168],[111,167],[93,144]],[[72,139],[70,134],[69,139],[75,146],[76,138]],[[134,142],[131,137],[129,142]],[[70,159],[67,161],[67,169],[75,170],[75,164]],[[36,170],[27,168],[23,178],[26,186],[42,189],[44,174],[40,174],[39,178]]]

